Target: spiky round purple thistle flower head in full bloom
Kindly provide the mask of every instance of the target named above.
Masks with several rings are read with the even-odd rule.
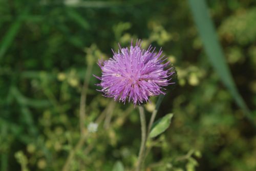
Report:
[[[120,45],[119,45],[120,47]],[[113,50],[112,50],[113,51]],[[97,77],[101,80],[101,90],[106,97],[114,97],[114,100],[124,102],[132,101],[134,105],[147,102],[150,96],[165,94],[162,89],[169,84],[172,79],[169,77],[174,74],[169,62],[163,63],[165,59],[162,50],[155,53],[155,47],[151,45],[147,50],[141,49],[140,41],[131,47],[121,48],[118,53],[114,53],[113,58],[99,61],[102,76]]]

